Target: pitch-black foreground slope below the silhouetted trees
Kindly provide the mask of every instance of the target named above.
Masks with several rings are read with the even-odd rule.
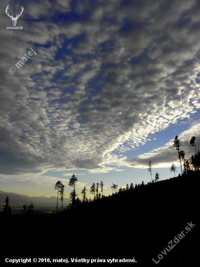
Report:
[[[1,260],[134,258],[136,263],[127,264],[200,266],[199,190],[195,172],[81,204],[66,214],[1,217]]]

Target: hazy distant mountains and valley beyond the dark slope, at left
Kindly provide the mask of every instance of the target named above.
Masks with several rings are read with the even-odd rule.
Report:
[[[26,195],[21,195],[17,193],[8,193],[0,190],[0,205],[5,204],[6,197],[9,197],[10,206],[20,206],[28,203],[33,203],[34,208],[43,208],[43,207],[56,207],[57,197],[28,197]],[[70,199],[64,198],[63,206],[66,207],[69,203]],[[58,208],[61,208],[60,198],[58,199]]]

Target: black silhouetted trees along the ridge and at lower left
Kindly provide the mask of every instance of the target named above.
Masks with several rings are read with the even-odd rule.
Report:
[[[180,168],[181,168],[181,175],[186,175],[186,174],[190,174],[192,172],[195,171],[199,171],[200,170],[200,151],[198,150],[197,152],[197,148],[196,148],[196,144],[195,144],[195,140],[196,137],[193,136],[189,142],[189,146],[194,146],[195,147],[195,151],[196,153],[194,155],[191,156],[191,158],[185,159],[185,152],[183,150],[181,150],[181,141],[178,138],[179,136],[176,135],[176,137],[174,138],[174,143],[173,146],[176,148],[176,150],[178,151],[178,159],[179,159],[179,163],[180,163]],[[182,167],[182,163],[183,163],[183,167]],[[149,166],[148,166],[148,171],[150,172],[151,175],[151,182],[147,183],[148,184],[153,184],[155,182],[158,182],[158,180],[160,179],[159,174],[156,172],[155,174],[155,180],[152,179],[152,171],[151,171],[152,165],[151,165],[151,161],[149,162]],[[174,177],[175,177],[175,172],[176,170],[176,166],[172,163],[172,166],[170,167],[170,172],[174,172]],[[179,174],[180,176],[180,174]],[[56,213],[60,212],[60,209],[58,208],[58,198],[60,195],[60,201],[62,202],[62,208],[61,208],[61,212],[66,212],[69,209],[73,209],[76,206],[79,206],[81,203],[90,203],[94,200],[100,200],[103,197],[105,197],[103,195],[103,188],[104,188],[104,184],[103,181],[97,184],[93,183],[92,186],[90,187],[90,193],[93,195],[93,200],[91,200],[91,198],[89,198],[89,200],[87,199],[86,196],[86,191],[88,191],[88,189],[86,188],[86,186],[84,185],[82,191],[81,191],[81,195],[82,195],[82,201],[77,197],[79,194],[76,193],[76,189],[75,189],[75,185],[78,182],[78,179],[76,177],[75,174],[72,175],[72,177],[69,179],[69,186],[73,187],[73,190],[71,191],[71,193],[69,194],[69,198],[71,199],[69,202],[69,205],[67,206],[67,209],[65,208],[63,210],[63,200],[64,200],[64,191],[65,191],[65,185],[58,181],[55,185],[54,185],[54,190],[57,190],[57,204],[56,204]],[[125,188],[118,188],[117,184],[112,184],[111,189],[113,191],[113,194],[117,194],[117,193],[121,193],[121,192],[127,192],[127,191],[132,191],[134,189],[143,187],[144,181],[142,182],[142,184],[135,184],[135,186],[133,185],[133,183],[131,183],[131,185],[129,186],[129,184],[126,184]],[[7,196],[5,199],[5,205],[3,205],[3,214],[6,216],[11,215],[11,207],[10,207],[10,201],[9,201],[9,197]],[[28,203],[23,205],[23,209],[26,211],[26,215],[33,215],[33,209],[34,209],[34,205],[33,203],[31,203],[30,205]]]

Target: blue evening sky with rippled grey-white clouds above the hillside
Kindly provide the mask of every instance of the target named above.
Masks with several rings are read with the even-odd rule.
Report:
[[[176,135],[186,158],[200,148],[199,0],[4,0],[0,25],[1,191],[60,180],[68,198],[75,173],[79,198],[109,195],[150,182],[150,161],[178,174]]]

